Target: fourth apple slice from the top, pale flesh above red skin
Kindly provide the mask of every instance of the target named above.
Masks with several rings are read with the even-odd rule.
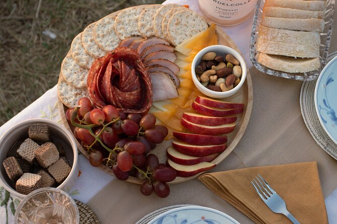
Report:
[[[184,118],[180,120],[181,125],[188,129],[189,131],[200,134],[200,135],[222,135],[231,133],[234,131],[236,123],[219,125],[219,126],[207,126],[207,125],[198,125],[189,121],[186,121]]]

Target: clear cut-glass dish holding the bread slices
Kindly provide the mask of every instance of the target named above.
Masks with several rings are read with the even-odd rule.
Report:
[[[289,79],[295,79],[295,80],[302,80],[302,81],[310,81],[314,80],[318,77],[319,73],[322,71],[323,67],[326,64],[327,55],[328,55],[328,49],[330,47],[331,42],[331,33],[332,33],[332,24],[333,24],[333,12],[334,12],[334,0],[327,0],[327,7],[325,10],[324,15],[324,30],[320,34],[321,36],[321,44],[320,44],[320,68],[310,71],[310,72],[304,72],[304,73],[288,73],[288,72],[282,72],[278,70],[273,70],[270,68],[265,67],[264,65],[260,64],[256,60],[257,50],[256,50],[256,40],[258,36],[258,30],[262,19],[262,12],[263,12],[263,5],[265,0],[258,0],[255,14],[254,14],[254,21],[251,31],[251,37],[250,37],[250,60],[255,66],[255,68],[265,74],[268,75],[274,75],[278,77],[283,78],[289,78]]]

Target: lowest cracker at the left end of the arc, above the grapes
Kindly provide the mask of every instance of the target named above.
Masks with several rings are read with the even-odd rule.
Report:
[[[57,94],[62,103],[68,107],[74,107],[82,97],[89,97],[87,88],[75,88],[60,76],[57,83]]]

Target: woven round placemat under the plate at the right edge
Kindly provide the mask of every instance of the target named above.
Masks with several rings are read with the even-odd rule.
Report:
[[[327,62],[335,56],[337,56],[337,52],[330,54]],[[314,100],[316,81],[305,81],[302,84],[300,95],[302,117],[317,144],[332,158],[337,160],[337,145],[326,134],[317,117]]]

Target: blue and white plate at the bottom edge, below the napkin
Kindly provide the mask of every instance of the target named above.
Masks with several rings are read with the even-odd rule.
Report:
[[[231,216],[213,208],[184,206],[166,211],[149,224],[240,224]]]

